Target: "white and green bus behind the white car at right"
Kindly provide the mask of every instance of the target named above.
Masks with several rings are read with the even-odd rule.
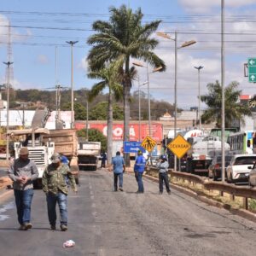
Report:
[[[253,154],[253,131],[240,131],[230,134],[227,143],[233,154]]]

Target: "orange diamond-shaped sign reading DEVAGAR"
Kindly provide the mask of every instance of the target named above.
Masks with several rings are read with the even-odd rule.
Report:
[[[167,145],[167,148],[169,148],[177,158],[182,158],[189,148],[191,148],[191,145],[183,138],[183,136],[178,134],[177,137]]]

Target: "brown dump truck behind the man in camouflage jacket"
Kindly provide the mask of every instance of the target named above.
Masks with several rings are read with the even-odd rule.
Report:
[[[79,184],[78,137],[74,129],[49,130],[44,135],[44,143],[55,143],[55,152],[67,156],[69,167],[76,183]]]

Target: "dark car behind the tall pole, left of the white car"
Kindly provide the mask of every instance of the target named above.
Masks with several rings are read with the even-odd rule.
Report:
[[[232,159],[233,155],[226,154],[225,155],[225,177],[227,177],[227,166],[230,165],[230,160]],[[217,181],[219,178],[222,177],[222,156],[216,155],[212,159],[212,164],[208,168],[208,177],[212,177],[214,181]]]

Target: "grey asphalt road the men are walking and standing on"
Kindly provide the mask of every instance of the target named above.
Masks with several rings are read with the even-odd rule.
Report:
[[[49,230],[46,201],[35,190],[33,229],[19,231],[13,195],[0,204],[1,255],[254,255],[256,224],[210,207],[144,178],[145,194],[125,174],[124,192],[113,192],[113,174],[82,172],[79,194],[68,196],[68,230]],[[63,248],[72,239],[75,247]]]

